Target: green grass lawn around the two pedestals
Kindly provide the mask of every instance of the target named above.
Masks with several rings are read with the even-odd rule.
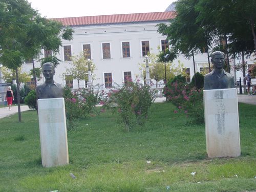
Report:
[[[68,132],[70,164],[53,168],[41,166],[35,111],[22,123],[17,114],[0,119],[0,191],[256,190],[255,105],[239,104],[238,158],[207,158],[204,125],[174,110],[154,103],[145,127],[130,133],[110,112],[81,120]]]

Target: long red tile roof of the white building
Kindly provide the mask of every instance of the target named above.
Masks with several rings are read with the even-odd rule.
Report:
[[[64,26],[80,25],[104,25],[119,23],[140,23],[140,22],[157,22],[169,20],[176,16],[176,12],[154,12],[154,13],[132,13],[116,15],[99,15],[83,17],[52,18],[62,23]]]

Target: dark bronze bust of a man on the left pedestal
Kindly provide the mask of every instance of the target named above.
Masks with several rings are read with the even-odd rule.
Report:
[[[46,99],[63,97],[63,88],[61,87],[61,84],[58,84],[53,80],[55,74],[53,63],[44,63],[44,65],[42,65],[42,74],[45,77],[45,82],[36,87],[37,98]]]

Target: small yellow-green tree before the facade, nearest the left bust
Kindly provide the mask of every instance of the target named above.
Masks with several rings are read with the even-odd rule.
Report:
[[[88,81],[88,57],[81,52],[79,55],[72,56],[71,68],[66,70],[66,73],[62,74],[63,79],[73,80],[76,79],[78,82],[78,89],[80,88],[80,80]],[[91,71],[95,70],[95,65],[90,61]]]

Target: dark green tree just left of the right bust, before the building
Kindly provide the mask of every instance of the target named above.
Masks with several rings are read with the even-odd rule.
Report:
[[[197,2],[197,0],[177,1],[177,16],[170,21],[168,26],[165,24],[158,25],[158,32],[167,35],[167,39],[174,49],[182,52],[186,58],[193,58],[195,74],[195,54],[203,47],[208,48],[211,42],[210,39],[207,39],[210,35],[206,35],[206,28],[200,26],[196,21],[198,17],[195,10]]]

